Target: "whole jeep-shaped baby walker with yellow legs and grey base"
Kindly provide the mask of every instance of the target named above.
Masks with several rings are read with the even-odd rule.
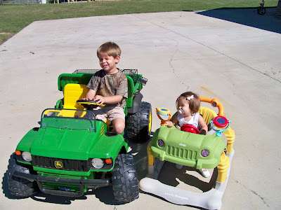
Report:
[[[169,109],[156,109],[161,127],[155,130],[148,144],[148,175],[138,184],[145,193],[157,195],[174,204],[221,209],[223,193],[230,174],[230,163],[235,153],[233,150],[235,132],[230,129],[231,121],[223,117],[223,105],[218,99],[200,97],[200,101],[218,108],[217,115],[214,110],[200,106],[199,113],[210,129],[207,135],[197,134],[199,131],[194,130],[190,125],[183,125],[179,130],[175,126],[166,127],[164,125],[166,120],[162,116],[164,118],[169,116],[169,120],[171,118]],[[227,143],[222,134],[226,137]],[[158,177],[165,161],[175,163],[177,169],[181,169],[182,165],[196,169],[216,168],[217,173],[212,174],[214,178],[216,176],[216,183],[211,181],[207,183],[214,186],[203,193],[161,183]]]

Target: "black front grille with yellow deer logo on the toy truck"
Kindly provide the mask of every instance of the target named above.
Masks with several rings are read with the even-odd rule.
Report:
[[[58,167],[55,167],[55,162],[57,162]],[[75,172],[88,172],[91,167],[89,160],[48,158],[37,155],[32,155],[32,165],[34,167],[44,167],[47,169],[60,169]],[[60,165],[62,166],[60,167]]]

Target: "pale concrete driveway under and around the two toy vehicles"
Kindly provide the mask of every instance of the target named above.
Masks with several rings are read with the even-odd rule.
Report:
[[[119,68],[148,78],[143,100],[152,104],[152,131],[160,123],[155,107],[176,111],[175,100],[186,90],[223,104],[236,139],[221,209],[280,209],[281,20],[274,15],[275,8],[263,16],[254,9],[183,11],[38,21],[22,29],[0,45],[0,208],[196,209],[145,193],[117,205],[110,187],[75,198],[8,193],[8,159],[38,126],[41,111],[63,97],[59,74],[100,69],[96,49],[115,41],[122,48]],[[146,173],[146,146],[132,144],[139,179]],[[169,180],[172,172],[165,172]],[[173,173],[171,182],[185,188],[190,176]],[[193,174],[192,180],[201,179]]]

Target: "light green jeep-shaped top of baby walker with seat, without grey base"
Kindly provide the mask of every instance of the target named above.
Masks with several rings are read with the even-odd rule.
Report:
[[[207,135],[198,134],[199,131],[194,130],[194,127],[191,125],[183,125],[179,130],[174,126],[171,128],[164,126],[165,120],[160,115],[167,115],[167,109],[157,108],[157,116],[162,121],[162,126],[155,131],[150,143],[150,153],[155,158],[174,162],[178,165],[195,167],[196,169],[213,169],[220,163],[222,153],[225,153],[227,150],[232,151],[233,132],[230,127],[227,127],[227,125],[229,126],[228,120],[223,117],[223,105],[217,99],[207,97],[200,97],[200,101],[207,102],[211,106],[218,108],[219,117],[215,111],[200,106],[199,113],[209,126]],[[169,118],[171,118],[170,113]],[[214,120],[216,122],[214,127],[221,127],[220,130],[216,130],[216,133],[214,133],[214,127],[213,131],[211,130],[212,119],[218,119]],[[223,122],[223,125],[220,125],[220,122]],[[227,127],[227,131],[223,130],[225,127]],[[226,135],[231,131],[228,145],[221,137],[222,130]]]

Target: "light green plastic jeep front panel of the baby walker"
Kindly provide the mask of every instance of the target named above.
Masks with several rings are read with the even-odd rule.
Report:
[[[158,139],[164,141],[164,146],[157,144]],[[197,169],[213,169],[220,162],[221,153],[225,149],[226,143],[222,137],[216,137],[216,134],[205,136],[182,132],[174,126],[171,128],[161,126],[153,135],[150,152],[162,161]],[[209,151],[209,155],[203,157],[202,150]]]

